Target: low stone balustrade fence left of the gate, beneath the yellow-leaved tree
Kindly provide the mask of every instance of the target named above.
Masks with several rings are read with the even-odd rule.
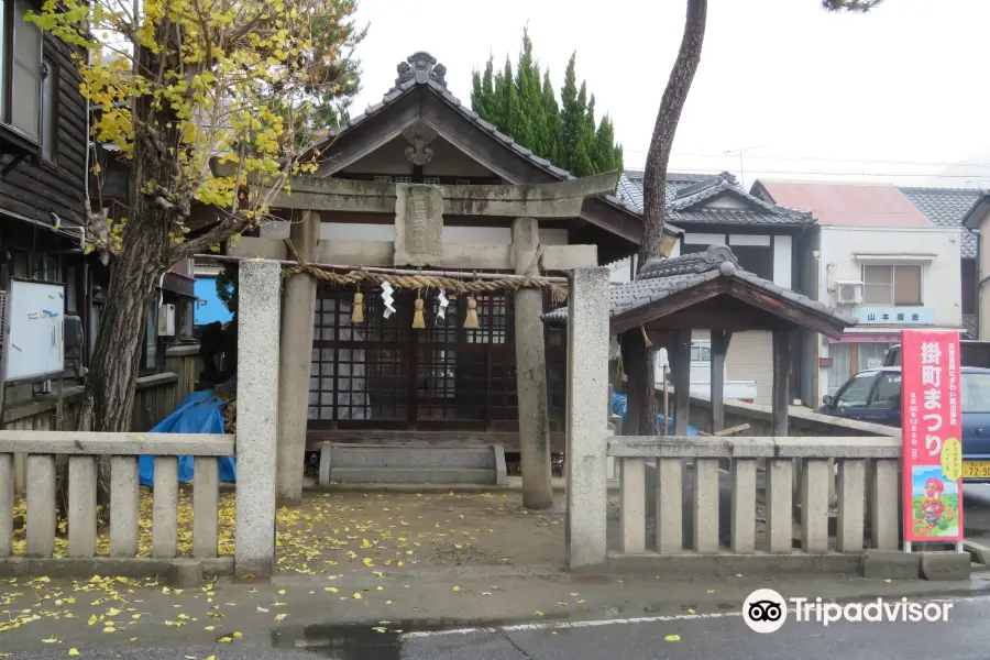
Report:
[[[207,433],[0,431],[0,558],[13,549],[13,457],[25,454],[26,556],[52,557],[56,531],[56,457],[68,457],[69,557],[97,554],[97,461],[110,457],[110,557],[134,558],[140,532],[138,460],[155,457],[152,557],[177,554],[178,457],[194,457],[193,556],[216,558],[219,541],[220,457],[234,437]]]

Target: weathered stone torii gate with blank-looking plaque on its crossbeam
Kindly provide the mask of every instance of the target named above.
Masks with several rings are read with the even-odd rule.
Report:
[[[535,185],[428,185],[296,177],[273,209],[290,211],[289,234],[309,262],[356,266],[435,267],[512,271],[539,275],[548,271],[596,266],[595,245],[544,245],[538,220],[574,219],[584,199],[610,193],[616,173]],[[319,240],[321,221],[346,221],[349,213],[394,216],[395,240]],[[322,218],[321,218],[321,215]],[[444,216],[512,218],[512,244],[443,243]],[[484,224],[483,221],[480,224]],[[279,239],[245,238],[229,252],[241,256],[287,258]],[[302,495],[310,360],[317,283],[298,274],[285,288],[278,374],[278,477],[282,504]],[[515,292],[516,381],[524,505],[552,506],[547,361],[541,292]]]

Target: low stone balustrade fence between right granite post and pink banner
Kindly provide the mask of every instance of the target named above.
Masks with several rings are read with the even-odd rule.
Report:
[[[804,554],[861,554],[867,546],[899,548],[901,443],[897,438],[613,437],[607,447],[620,482],[622,554],[718,554],[726,551],[721,539],[728,540],[727,549],[736,554],[790,554],[795,552],[795,525],[800,526],[796,551]],[[801,466],[796,498],[795,464]],[[656,479],[648,480],[653,469]],[[837,482],[834,547],[829,542],[833,479]],[[656,484],[656,494],[649,493],[648,481]],[[648,506],[649,496],[656,497],[654,507]],[[758,504],[762,516],[757,515]],[[656,519],[653,547],[647,546],[650,508]],[[690,534],[684,534],[685,508]],[[758,518],[766,526],[761,543],[757,542]],[[690,549],[683,542],[685,536],[691,539]]]

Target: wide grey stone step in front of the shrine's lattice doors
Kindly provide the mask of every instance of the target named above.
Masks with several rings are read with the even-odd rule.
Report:
[[[326,443],[320,449],[320,485],[486,484],[505,485],[502,444],[435,447]]]

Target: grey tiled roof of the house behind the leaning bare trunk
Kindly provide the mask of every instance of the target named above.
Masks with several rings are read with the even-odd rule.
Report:
[[[642,170],[627,169],[619,177],[620,199],[642,209]],[[747,208],[706,206],[718,197],[730,195]],[[746,191],[732,174],[667,175],[667,219],[678,226],[705,224],[814,224],[806,211],[767,204]]]

